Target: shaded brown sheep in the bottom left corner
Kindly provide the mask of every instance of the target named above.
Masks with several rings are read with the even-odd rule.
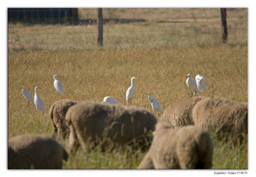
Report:
[[[68,153],[46,135],[27,134],[8,140],[8,169],[61,169]]]

